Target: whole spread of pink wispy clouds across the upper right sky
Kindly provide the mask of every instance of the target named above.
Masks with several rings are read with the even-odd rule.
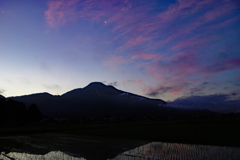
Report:
[[[177,0],[161,9],[155,2],[136,5],[132,0],[57,0],[48,2],[45,18],[50,28],[81,19],[105,25],[113,48],[106,66],[115,70],[131,61],[152,79],[151,85],[142,83],[142,92],[181,95],[201,93],[207,85],[196,84],[240,69],[239,49],[224,59],[217,50],[236,43],[224,39],[232,36],[228,29],[239,23],[239,9],[234,0]]]

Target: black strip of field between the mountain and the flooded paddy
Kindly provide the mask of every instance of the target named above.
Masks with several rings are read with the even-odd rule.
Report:
[[[5,127],[0,136],[64,133],[93,137],[240,147],[239,121],[141,121]]]

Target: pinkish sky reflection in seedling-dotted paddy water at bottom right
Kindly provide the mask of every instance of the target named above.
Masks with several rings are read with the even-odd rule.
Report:
[[[112,160],[239,160],[240,148],[152,142]]]

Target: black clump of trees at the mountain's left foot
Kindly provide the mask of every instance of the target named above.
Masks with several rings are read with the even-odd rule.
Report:
[[[35,104],[27,109],[23,102],[0,98],[0,125],[25,125],[39,122],[43,118]]]

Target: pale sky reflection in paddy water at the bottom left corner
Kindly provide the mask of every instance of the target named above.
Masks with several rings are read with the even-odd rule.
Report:
[[[36,155],[36,154],[27,154],[27,153],[16,153],[16,152],[10,152],[8,154],[1,153],[0,155],[1,160],[10,160],[10,159],[16,159],[16,160],[85,160],[84,158],[77,158],[69,156],[63,152],[60,151],[52,151],[45,155]]]

